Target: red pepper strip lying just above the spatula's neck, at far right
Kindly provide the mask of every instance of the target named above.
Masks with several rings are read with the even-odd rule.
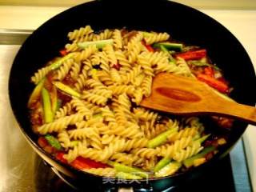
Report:
[[[207,85],[213,87],[214,89],[222,93],[227,93],[229,89],[229,87],[224,82],[221,82],[218,79],[210,77],[206,74],[198,74],[197,78],[199,81],[206,82]]]

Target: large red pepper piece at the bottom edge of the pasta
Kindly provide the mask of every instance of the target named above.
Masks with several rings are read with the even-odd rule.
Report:
[[[74,166],[78,170],[90,169],[90,168],[106,168],[107,165],[102,162],[95,162],[90,158],[78,157],[71,162],[71,166]]]

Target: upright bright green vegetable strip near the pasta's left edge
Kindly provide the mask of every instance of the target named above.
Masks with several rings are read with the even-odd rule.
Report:
[[[42,88],[42,106],[43,106],[43,114],[45,122],[52,122],[54,120],[54,115],[51,110],[50,104],[50,94],[48,90]]]

